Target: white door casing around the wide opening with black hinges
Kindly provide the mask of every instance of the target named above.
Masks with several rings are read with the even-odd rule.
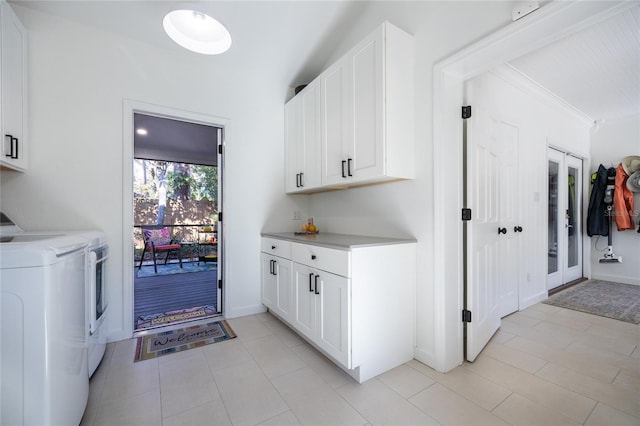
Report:
[[[433,70],[432,349],[418,360],[438,371],[463,362],[462,120],[464,81],[635,7],[632,2],[553,2],[438,62]],[[589,258],[589,253],[583,253]]]

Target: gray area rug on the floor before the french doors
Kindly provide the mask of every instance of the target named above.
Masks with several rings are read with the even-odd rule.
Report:
[[[562,290],[542,303],[640,324],[640,286],[588,280]]]

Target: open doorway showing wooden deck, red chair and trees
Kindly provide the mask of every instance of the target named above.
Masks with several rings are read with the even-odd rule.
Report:
[[[223,129],[133,113],[133,330],[222,314]]]

